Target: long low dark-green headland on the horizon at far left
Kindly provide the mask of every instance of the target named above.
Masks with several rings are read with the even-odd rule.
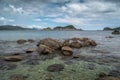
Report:
[[[30,30],[30,28],[23,28],[21,26],[1,25],[0,30]]]

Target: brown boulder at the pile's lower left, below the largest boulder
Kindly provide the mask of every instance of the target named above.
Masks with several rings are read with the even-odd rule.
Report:
[[[53,49],[50,48],[49,46],[40,44],[38,47],[38,52],[40,54],[51,54],[53,53]]]

